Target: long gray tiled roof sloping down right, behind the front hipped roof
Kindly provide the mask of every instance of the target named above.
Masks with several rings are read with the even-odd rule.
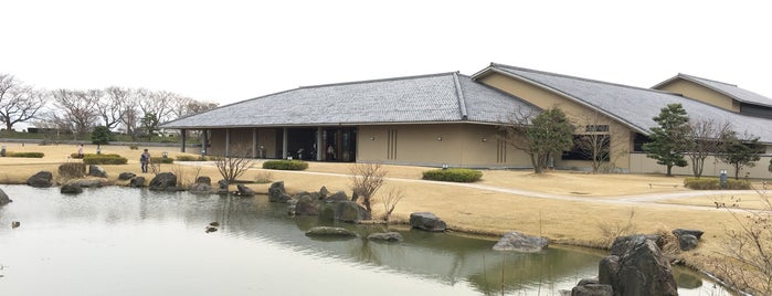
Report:
[[[760,137],[761,141],[772,142],[772,120],[740,115],[676,94],[503,64],[491,64],[488,68],[518,76],[541,87],[561,93],[580,104],[613,116],[621,123],[644,134],[648,134],[649,128],[657,125],[652,118],[657,116],[662,108],[667,104],[677,103],[684,106],[690,118],[729,121],[738,133],[748,131]]]

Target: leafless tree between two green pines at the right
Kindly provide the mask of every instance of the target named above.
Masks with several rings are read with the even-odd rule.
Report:
[[[721,151],[722,142],[731,131],[729,123],[717,124],[713,119],[691,119],[686,133],[687,157],[691,161],[695,177],[702,176],[705,159]]]

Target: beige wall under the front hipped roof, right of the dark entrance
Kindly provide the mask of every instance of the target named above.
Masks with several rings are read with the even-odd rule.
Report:
[[[494,126],[360,126],[358,135],[359,162],[434,167],[447,163],[451,167],[469,168],[530,167],[530,160],[525,154],[499,144]]]

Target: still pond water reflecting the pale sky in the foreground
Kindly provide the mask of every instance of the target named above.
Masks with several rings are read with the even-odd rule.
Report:
[[[287,216],[264,195],[0,189],[14,201],[0,207],[0,295],[559,295],[604,255],[501,253],[489,240],[393,228],[404,242],[310,239],[316,218]],[[694,273],[676,277],[681,295],[725,295]]]

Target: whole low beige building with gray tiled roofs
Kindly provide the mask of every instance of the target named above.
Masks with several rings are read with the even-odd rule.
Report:
[[[646,158],[641,146],[656,126],[652,118],[673,103],[681,104],[691,118],[732,123],[736,130],[760,137],[766,154],[772,154],[772,99],[734,85],[679,74],[642,88],[496,63],[472,76],[440,73],[299,87],[161,127],[204,131],[208,155],[232,155],[239,149],[263,158],[529,168],[528,156],[500,140],[497,126],[510,120],[516,110],[557,106],[579,125],[596,118],[583,130],[611,137],[616,149],[611,154],[617,155],[614,170],[659,172],[664,168]],[[330,146],[332,154],[327,154]],[[769,161],[765,157],[762,161]],[[568,169],[590,167],[572,154],[553,163]],[[706,175],[718,172],[719,167],[708,163]],[[766,166],[759,167],[749,172],[769,175]]]

